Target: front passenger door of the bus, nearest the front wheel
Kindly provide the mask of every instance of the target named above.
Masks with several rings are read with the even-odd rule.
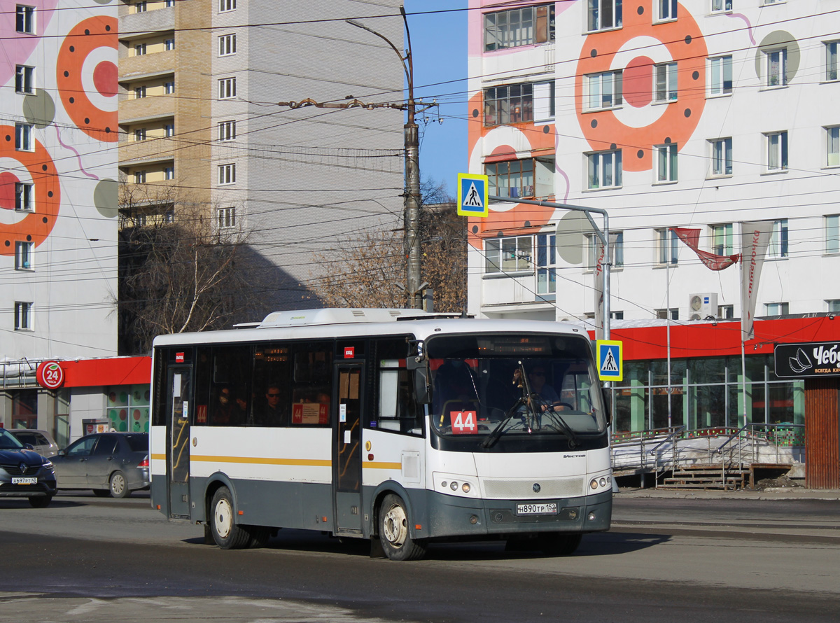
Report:
[[[361,534],[361,364],[336,364],[333,383],[333,492],[336,531]]]

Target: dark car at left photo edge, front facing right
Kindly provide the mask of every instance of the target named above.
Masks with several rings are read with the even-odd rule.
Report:
[[[50,459],[0,428],[0,497],[29,498],[35,508],[44,508],[53,495],[55,472]]]

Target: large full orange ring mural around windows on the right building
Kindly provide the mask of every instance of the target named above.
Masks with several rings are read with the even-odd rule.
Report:
[[[708,52],[700,26],[681,4],[674,21],[652,24],[653,14],[651,0],[625,3],[622,29],[587,36],[575,74],[575,109],[586,141],[592,149],[623,148],[622,169],[626,171],[649,170],[654,144],[676,143],[681,149],[694,133],[706,105]],[[633,57],[634,39],[638,39],[638,54]],[[624,97],[624,106],[649,105],[652,97],[647,93],[653,92],[654,73],[654,61],[648,58],[652,55],[650,39],[659,41],[669,60],[677,63],[677,99],[662,104],[660,117],[640,128],[623,123],[621,110],[584,112],[584,76],[606,71],[626,73],[628,97]],[[613,66],[619,53],[622,58],[632,58],[624,66]]]

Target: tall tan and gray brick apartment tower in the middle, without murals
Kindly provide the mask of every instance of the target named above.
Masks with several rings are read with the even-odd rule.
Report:
[[[278,102],[402,101],[396,0],[120,3],[120,170],[129,224],[199,206],[246,233],[269,309],[318,306],[324,256],[402,214],[402,112]],[[243,321],[255,318],[243,318]]]

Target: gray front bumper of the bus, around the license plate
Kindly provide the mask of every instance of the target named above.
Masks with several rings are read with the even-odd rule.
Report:
[[[515,500],[470,500],[428,491],[429,537],[528,532],[598,532],[610,529],[612,492],[556,502],[555,515],[517,516]]]

